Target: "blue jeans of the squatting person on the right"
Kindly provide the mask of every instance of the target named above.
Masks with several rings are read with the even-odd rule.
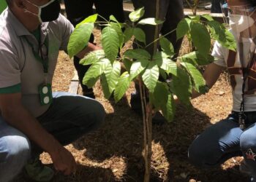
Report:
[[[243,155],[249,173],[256,176],[256,112],[246,113],[246,129],[241,130],[238,114],[208,127],[189,146],[189,160],[197,167],[214,167],[231,157]]]

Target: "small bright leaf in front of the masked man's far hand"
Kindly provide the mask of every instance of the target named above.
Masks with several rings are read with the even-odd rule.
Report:
[[[104,50],[94,50],[92,52],[89,52],[89,54],[87,54],[83,59],[81,59],[79,63],[82,64],[83,66],[91,65],[104,57],[105,57]]]

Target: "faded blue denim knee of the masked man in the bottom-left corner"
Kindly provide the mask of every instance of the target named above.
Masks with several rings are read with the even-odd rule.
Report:
[[[0,181],[10,181],[18,175],[30,157],[29,140],[22,135],[0,138]]]

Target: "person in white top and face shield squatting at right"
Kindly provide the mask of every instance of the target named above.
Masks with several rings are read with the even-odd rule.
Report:
[[[217,59],[207,66],[203,76],[211,88],[224,68],[233,89],[233,110],[226,119],[208,127],[189,147],[189,160],[197,167],[214,167],[231,157],[242,155],[241,172],[256,181],[256,1],[228,0],[225,15],[236,38],[237,51],[214,44]],[[199,94],[194,93],[192,97]]]

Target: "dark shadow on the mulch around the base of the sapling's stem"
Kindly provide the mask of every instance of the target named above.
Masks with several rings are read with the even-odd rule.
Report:
[[[76,141],[73,146],[78,150],[86,149],[84,155],[96,162],[103,162],[111,157],[122,157],[127,166],[121,181],[143,181],[142,119],[131,110],[127,99],[111,104],[114,111],[107,114],[102,128]],[[173,122],[154,125],[154,143],[159,143],[163,149],[153,149],[153,153],[159,153],[154,156],[161,156],[159,159],[165,156],[167,161],[158,161],[157,157],[153,157],[152,162],[156,163],[156,166],[167,167],[163,167],[163,170],[153,168],[151,181],[244,181],[246,177],[238,173],[237,169],[222,170],[219,167],[213,170],[199,170],[189,164],[189,144],[210,125],[210,118],[206,114],[196,108],[188,111],[183,106],[177,107]]]

